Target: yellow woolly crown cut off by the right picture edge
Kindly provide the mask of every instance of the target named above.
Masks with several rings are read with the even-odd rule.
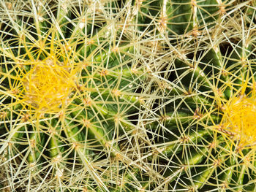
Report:
[[[220,123],[230,136],[239,142],[239,145],[255,145],[256,142],[256,95],[255,88],[245,94],[246,85],[239,95],[234,95],[223,106],[223,116]]]

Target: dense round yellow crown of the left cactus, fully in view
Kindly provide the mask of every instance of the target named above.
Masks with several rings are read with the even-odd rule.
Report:
[[[60,106],[67,105],[69,95],[75,88],[74,66],[46,58],[34,61],[31,67],[20,80],[24,102],[37,112],[58,112]]]

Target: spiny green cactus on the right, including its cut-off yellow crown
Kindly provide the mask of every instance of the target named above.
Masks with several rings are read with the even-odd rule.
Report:
[[[168,190],[256,190],[254,22],[255,8],[243,7],[170,53],[165,139],[151,157],[165,165]]]

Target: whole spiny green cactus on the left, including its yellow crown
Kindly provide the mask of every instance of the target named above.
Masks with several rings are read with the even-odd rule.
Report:
[[[131,146],[154,82],[119,6],[1,1],[4,190],[140,188]]]

